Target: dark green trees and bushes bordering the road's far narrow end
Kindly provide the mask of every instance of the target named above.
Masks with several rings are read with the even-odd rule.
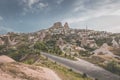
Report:
[[[64,57],[67,59],[71,59],[71,60],[75,60],[75,58],[71,55],[67,55],[67,54],[63,54],[63,52],[61,51],[61,49],[55,45],[55,41],[51,40],[51,41],[46,41],[46,42],[37,42],[34,45],[34,49],[35,50],[40,50],[43,52],[47,52],[56,56],[60,56],[60,57]]]

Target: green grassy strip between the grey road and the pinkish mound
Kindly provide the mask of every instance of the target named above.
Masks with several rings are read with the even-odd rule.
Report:
[[[57,62],[50,61],[46,57],[41,56],[39,61],[35,64],[36,66],[43,66],[54,70],[62,80],[92,80],[87,76],[74,72],[72,69],[63,67]]]

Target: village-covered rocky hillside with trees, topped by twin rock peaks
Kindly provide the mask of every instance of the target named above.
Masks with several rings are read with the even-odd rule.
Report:
[[[56,22],[48,29],[33,33],[0,35],[1,55],[22,61],[26,56],[23,53],[39,51],[82,58],[103,67],[113,60],[120,64],[120,34],[87,28],[72,29],[67,22],[64,25]]]

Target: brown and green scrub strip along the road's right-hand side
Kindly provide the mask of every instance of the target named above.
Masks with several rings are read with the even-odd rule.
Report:
[[[91,58],[85,57],[85,58],[82,58],[82,59],[85,59],[88,62],[91,62],[93,64],[101,66],[104,69],[106,69],[106,70],[108,70],[108,71],[110,71],[112,73],[120,75],[120,63],[118,63],[118,62],[116,62],[114,60],[104,63],[105,60],[103,58],[98,57],[98,56],[93,56]]]

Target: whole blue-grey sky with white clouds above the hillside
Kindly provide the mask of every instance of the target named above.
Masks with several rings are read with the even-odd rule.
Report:
[[[0,0],[0,34],[34,32],[55,22],[120,33],[120,0]]]

